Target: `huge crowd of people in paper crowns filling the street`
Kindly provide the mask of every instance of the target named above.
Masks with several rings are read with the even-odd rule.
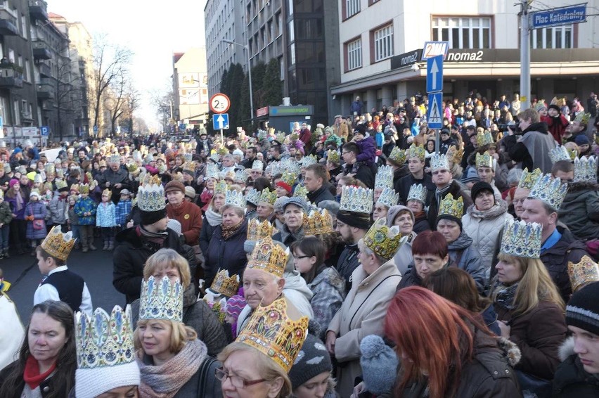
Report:
[[[44,279],[0,397],[597,397],[598,105],[3,143],[0,257]],[[67,266],[97,240],[110,312]]]

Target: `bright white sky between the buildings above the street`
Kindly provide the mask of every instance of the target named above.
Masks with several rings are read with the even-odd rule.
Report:
[[[207,0],[46,0],[48,11],[69,22],[81,22],[89,33],[134,52],[131,65],[141,107],[136,116],[158,126],[150,92],[172,86],[172,54],[205,45],[204,6]]]

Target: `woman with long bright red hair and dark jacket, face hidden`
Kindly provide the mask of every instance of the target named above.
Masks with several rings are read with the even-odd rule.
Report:
[[[430,290],[399,291],[387,309],[385,335],[401,358],[393,397],[522,397],[515,364],[498,338],[475,314]]]

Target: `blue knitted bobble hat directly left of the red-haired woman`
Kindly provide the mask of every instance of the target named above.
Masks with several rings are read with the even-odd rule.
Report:
[[[366,390],[375,395],[390,392],[395,383],[399,359],[378,335],[367,335],[360,342],[360,366]]]

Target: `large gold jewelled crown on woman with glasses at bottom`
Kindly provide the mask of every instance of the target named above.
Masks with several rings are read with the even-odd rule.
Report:
[[[288,373],[307,335],[308,317],[290,319],[287,302],[281,298],[255,309],[237,341],[262,352]]]

